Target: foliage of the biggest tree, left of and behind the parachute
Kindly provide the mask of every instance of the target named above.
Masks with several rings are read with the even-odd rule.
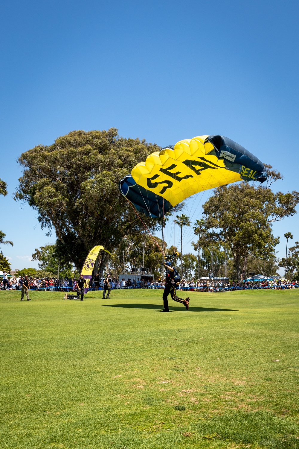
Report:
[[[111,252],[128,234],[144,229],[120,194],[118,181],[159,149],[144,140],[122,138],[115,128],[69,132],[20,156],[23,176],[15,199],[38,212],[42,228],[55,230],[57,256],[81,270],[94,245]],[[155,226],[152,220],[147,223]],[[103,252],[100,272],[107,257]]]

